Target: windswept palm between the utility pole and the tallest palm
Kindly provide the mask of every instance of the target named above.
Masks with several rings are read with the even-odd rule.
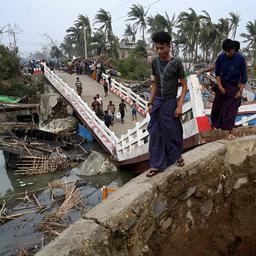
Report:
[[[95,15],[94,25],[97,23],[101,24],[101,26],[98,28],[98,30],[104,31],[106,44],[109,43],[110,47],[112,49],[114,37],[113,37],[113,30],[112,30],[111,14],[101,8],[98,11],[98,13]]]

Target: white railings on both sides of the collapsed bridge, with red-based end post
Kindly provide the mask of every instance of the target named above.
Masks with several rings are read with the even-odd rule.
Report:
[[[147,159],[149,145],[147,125],[150,118],[147,114],[147,101],[134,93],[130,88],[127,88],[112,78],[110,91],[121,99],[124,99],[130,105],[135,100],[138,106],[138,112],[145,117],[141,122],[136,122],[132,129],[128,129],[126,134],[118,137],[105,126],[104,122],[96,116],[94,111],[77,95],[76,91],[70,85],[65,83],[46,66],[44,68],[44,75],[51,85],[74,108],[80,121],[92,132],[99,143],[111,155],[115,156],[121,165]],[[107,77],[105,74],[103,76]],[[211,131],[211,125],[207,117],[210,110],[204,108],[202,86],[197,76],[190,75],[187,83],[189,93],[187,94],[187,101],[183,105],[183,115],[181,118],[185,147],[186,145],[189,147],[198,144],[199,142],[196,141],[198,134]],[[178,96],[180,92],[181,90],[178,91]],[[256,105],[253,108],[255,110]],[[256,116],[251,118],[256,118]],[[237,125],[242,125],[246,122],[247,120],[242,120]]]

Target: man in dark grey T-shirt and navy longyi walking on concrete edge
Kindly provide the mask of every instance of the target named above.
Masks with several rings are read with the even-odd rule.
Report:
[[[164,171],[175,162],[178,166],[184,165],[183,130],[180,116],[187,92],[183,65],[179,59],[170,55],[170,35],[162,31],[156,32],[152,39],[158,57],[152,62],[154,82],[148,103],[151,166],[148,177]],[[182,92],[177,100],[179,81]]]

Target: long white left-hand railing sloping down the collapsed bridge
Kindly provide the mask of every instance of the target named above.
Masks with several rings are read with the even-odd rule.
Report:
[[[55,89],[71,104],[81,117],[82,121],[90,127],[95,136],[113,154],[116,150],[118,138],[114,132],[107,128],[104,122],[99,119],[95,112],[81,99],[73,88],[54,74],[47,66],[44,66],[45,77],[51,82]]]

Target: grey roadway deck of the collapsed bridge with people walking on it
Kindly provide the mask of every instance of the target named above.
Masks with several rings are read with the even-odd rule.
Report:
[[[76,77],[79,77],[83,84],[82,99],[88,104],[88,106],[91,106],[93,97],[96,96],[96,94],[99,94],[103,99],[103,110],[107,109],[109,101],[112,100],[113,104],[115,105],[116,112],[118,111],[118,106],[121,102],[121,99],[117,95],[113,94],[110,90],[108,96],[104,97],[103,86],[90,77],[85,75],[77,76],[75,74],[69,75],[68,73],[57,71],[56,75],[74,89]],[[121,120],[115,118],[114,125],[110,126],[110,130],[114,131],[117,137],[120,137],[122,134],[127,134],[127,130],[133,128],[136,124],[136,121],[132,121],[132,111],[128,103],[126,103],[126,107],[127,112],[125,113],[124,123],[122,124]],[[143,119],[144,117],[139,112],[137,112],[137,120],[141,121]]]

